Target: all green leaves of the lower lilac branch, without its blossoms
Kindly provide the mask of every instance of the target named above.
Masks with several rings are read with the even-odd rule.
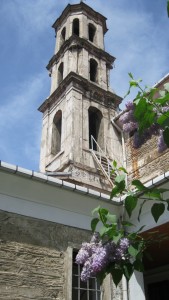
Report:
[[[110,198],[113,199],[113,197],[117,196],[123,197],[124,208],[129,218],[138,206],[138,220],[140,221],[142,209],[147,202],[151,204],[151,214],[155,222],[158,222],[165,210],[169,211],[169,200],[163,200],[163,195],[167,189],[156,187],[148,188],[138,179],[132,181],[132,187],[129,189],[125,180],[127,175],[126,169],[118,167],[116,161],[113,161],[112,168],[112,172],[116,174],[116,176]],[[154,236],[149,236],[146,240],[140,236],[140,232],[144,229],[145,225],[137,231],[131,231],[129,228],[134,228],[132,223],[128,220],[118,220],[115,214],[110,213],[109,210],[101,208],[100,206],[95,208],[92,214],[97,214],[91,221],[92,232],[99,232],[103,244],[112,241],[114,245],[118,247],[122,239],[127,237],[130,241],[123,260],[117,259],[109,263],[104,270],[96,274],[100,282],[103,282],[107,274],[111,274],[113,282],[117,286],[123,275],[128,281],[134,270],[143,272],[143,253],[147,245],[155,241]],[[99,229],[97,230],[98,226]],[[157,235],[157,233],[155,234]],[[158,237],[157,240],[160,241],[160,239],[162,239],[162,237]]]

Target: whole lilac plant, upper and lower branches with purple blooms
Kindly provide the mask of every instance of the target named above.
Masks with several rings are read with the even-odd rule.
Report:
[[[167,13],[169,17],[169,0]],[[147,86],[143,88],[142,80],[135,80],[131,73],[129,76],[127,95],[132,88],[137,88],[138,93],[133,102],[126,104],[126,111],[120,118],[123,130],[133,133],[135,148],[140,147],[153,134],[159,135],[158,150],[162,152],[169,147],[169,83],[164,84],[163,90],[155,87],[149,89]],[[116,161],[113,162],[112,173],[115,179],[110,199],[117,196],[123,198],[128,219],[139,205],[137,211],[140,220],[143,206],[148,201],[152,203],[151,214],[155,222],[166,210],[169,211],[169,200],[165,199],[166,189],[148,188],[138,179],[133,180],[128,188],[125,180],[127,171],[118,167]],[[140,234],[144,226],[137,231],[128,230],[134,226],[132,223],[123,218],[117,219],[115,214],[105,208],[97,207],[92,213],[96,215],[91,221],[93,236],[89,243],[82,244],[76,256],[76,262],[83,266],[81,280],[96,276],[102,283],[105,276],[111,274],[113,282],[118,285],[123,275],[129,280],[134,270],[142,272],[143,253],[147,245],[155,241],[154,236],[149,235],[144,239]]]

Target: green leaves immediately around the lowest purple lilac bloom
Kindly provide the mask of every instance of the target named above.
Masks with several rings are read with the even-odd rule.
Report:
[[[109,263],[104,270],[96,274],[100,283],[103,282],[107,274],[111,274],[113,282],[117,286],[123,275],[128,281],[134,270],[143,271],[142,257],[145,249],[145,241],[139,236],[139,231],[130,234],[126,233],[126,228],[133,226],[133,224],[128,221],[123,221],[119,224],[116,215],[111,214],[107,209],[97,207],[93,210],[93,214],[97,214],[97,217],[93,218],[91,228],[93,232],[96,231],[96,227],[100,223],[99,236],[103,244],[112,241],[118,247],[123,238],[127,238],[130,241],[123,259],[119,260],[117,258],[117,260]],[[142,229],[143,227],[140,228],[140,230]]]

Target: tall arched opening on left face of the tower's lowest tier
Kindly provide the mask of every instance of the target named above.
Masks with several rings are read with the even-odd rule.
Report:
[[[52,128],[52,154],[56,155],[61,151],[62,135],[62,112],[59,110],[53,119]]]

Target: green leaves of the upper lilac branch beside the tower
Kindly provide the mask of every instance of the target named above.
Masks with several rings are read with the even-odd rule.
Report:
[[[164,84],[164,89],[142,87],[141,79],[135,80],[133,75],[129,73],[132,79],[129,81],[130,94],[132,88],[137,88],[138,92],[134,99],[134,117],[138,123],[138,132],[140,136],[146,132],[152,125],[158,124],[163,131],[164,142],[169,147],[169,111],[165,111],[166,106],[169,107],[169,83]],[[157,97],[157,92],[159,96]],[[156,97],[155,97],[156,94]]]

